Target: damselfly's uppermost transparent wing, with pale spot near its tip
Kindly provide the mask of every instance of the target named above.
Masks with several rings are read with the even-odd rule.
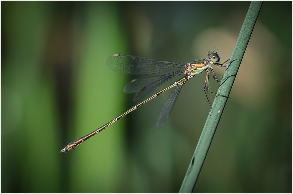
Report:
[[[173,67],[184,68],[184,64],[171,61],[155,61],[133,55],[114,54],[106,60],[106,65],[125,74],[141,75],[163,72]]]

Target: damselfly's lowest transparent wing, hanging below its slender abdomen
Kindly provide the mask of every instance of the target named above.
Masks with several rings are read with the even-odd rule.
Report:
[[[158,118],[158,122],[157,122],[157,127],[160,128],[164,125],[164,123],[166,122],[166,120],[169,118],[170,113],[175,105],[175,102],[178,98],[179,92],[182,88],[182,85],[179,85],[175,88],[175,90],[171,93],[171,95],[169,96],[169,98],[167,99],[167,101],[165,102],[165,104],[163,105],[160,114],[159,114],[159,118]]]

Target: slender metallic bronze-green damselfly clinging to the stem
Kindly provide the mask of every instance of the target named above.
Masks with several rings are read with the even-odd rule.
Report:
[[[214,79],[217,82],[220,82],[218,77],[216,76],[212,65],[220,66],[220,67],[226,67],[229,65],[233,60],[228,62],[230,59],[226,60],[223,63],[219,63],[220,57],[215,51],[209,51],[208,57],[206,59],[201,59],[197,61],[192,61],[190,63],[187,63],[186,65],[176,63],[176,62],[170,62],[170,61],[155,61],[152,59],[146,59],[143,57],[137,57],[133,55],[123,55],[123,54],[114,54],[111,57],[109,57],[106,60],[107,66],[117,72],[125,73],[125,74],[133,74],[133,75],[140,75],[140,74],[155,74],[159,72],[164,72],[172,68],[179,68],[179,70],[174,71],[172,73],[167,73],[164,75],[159,76],[148,76],[140,79],[134,79],[132,80],[124,89],[126,93],[136,93],[135,100],[138,100],[142,97],[144,97],[146,94],[148,94],[153,89],[157,88],[161,84],[165,83],[166,81],[170,80],[172,77],[183,74],[184,76],[177,81],[175,81],[170,86],[158,91],[150,98],[146,99],[145,101],[142,101],[141,103],[138,103],[134,105],[132,108],[127,110],[121,115],[118,115],[105,125],[99,127],[98,129],[94,130],[93,132],[89,133],[88,135],[85,135],[83,137],[78,138],[77,140],[71,142],[68,144],[64,149],[60,151],[62,152],[68,152],[69,150],[79,146],[82,142],[89,139],[90,137],[96,135],[97,133],[101,132],[103,129],[108,127],[109,125],[112,125],[114,122],[118,121],[128,113],[131,113],[133,110],[136,110],[138,107],[143,105],[144,103],[150,101],[151,99],[159,96],[161,93],[174,88],[175,90],[171,93],[165,104],[163,105],[159,118],[157,121],[157,127],[161,127],[167,118],[169,117],[172,108],[175,104],[175,101],[179,95],[179,92],[183,86],[189,79],[194,77],[197,74],[200,74],[204,71],[207,72],[206,79],[204,82],[204,93],[207,97],[206,92],[209,91],[209,73],[213,74]],[[227,63],[228,62],[228,63]],[[215,92],[211,92],[214,94],[218,94]],[[220,94],[218,94],[220,95]],[[222,95],[220,95],[222,96]],[[225,96],[226,97],[226,96]],[[207,98],[208,99],[208,98]],[[208,99],[209,105],[211,106],[211,103]]]

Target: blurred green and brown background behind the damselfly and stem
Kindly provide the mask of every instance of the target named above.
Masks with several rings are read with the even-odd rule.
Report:
[[[136,76],[107,57],[186,64],[215,47],[224,61],[249,4],[1,1],[1,193],[178,192],[210,110],[205,74],[161,129],[171,91],[59,151],[135,104]],[[264,2],[194,192],[292,193],[292,1]]]

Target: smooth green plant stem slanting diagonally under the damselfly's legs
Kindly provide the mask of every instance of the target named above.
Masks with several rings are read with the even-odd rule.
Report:
[[[227,68],[223,77],[224,78],[227,78],[228,76],[230,77],[226,79],[225,81],[221,82],[220,87],[217,91],[217,93],[220,93],[223,96],[229,96],[230,94],[230,91],[232,89],[232,85],[234,83],[236,74],[238,72],[240,63],[242,61],[245,49],[250,39],[255,22],[258,18],[258,14],[260,12],[261,6],[262,6],[262,1],[251,1],[250,3],[246,17],[244,19],[242,28],[238,36],[238,39],[236,41],[233,53],[230,58],[230,59],[237,59],[237,60],[233,61]],[[204,163],[204,159],[206,158],[206,154],[209,150],[211,141],[214,137],[216,128],[219,124],[221,115],[223,113],[223,109],[227,102],[227,98],[223,96],[217,95],[214,100],[212,109],[210,111],[211,115],[208,115],[208,118],[206,119],[206,123],[201,132],[201,136],[197,143],[197,147],[195,148],[194,154],[192,156],[191,162],[187,169],[187,173],[184,177],[179,193],[192,193],[194,189],[201,167]]]

